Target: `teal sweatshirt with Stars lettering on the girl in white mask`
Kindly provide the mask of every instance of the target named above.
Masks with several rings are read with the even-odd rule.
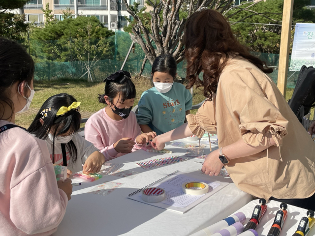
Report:
[[[180,83],[160,93],[153,87],[144,91],[138,103],[138,124],[147,124],[158,135],[184,124],[186,111],[192,106],[192,96]]]

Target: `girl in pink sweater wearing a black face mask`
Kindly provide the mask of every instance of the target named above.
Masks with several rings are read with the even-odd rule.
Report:
[[[85,139],[111,160],[142,148],[157,134],[141,134],[136,115],[131,111],[136,88],[126,71],[118,71],[105,80],[100,103],[107,107],[93,114],[85,124]]]

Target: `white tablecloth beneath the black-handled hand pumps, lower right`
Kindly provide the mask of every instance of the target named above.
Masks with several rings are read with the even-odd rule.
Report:
[[[246,215],[246,223],[250,220],[252,216],[252,211],[256,205],[258,205],[259,200],[253,200],[246,206],[240,208],[239,210],[235,212],[243,212]],[[280,209],[280,202],[277,201],[268,201],[267,202],[267,211],[264,214],[263,218],[261,219],[256,231],[259,236],[267,236],[270,228],[272,227],[272,224],[274,222],[276,212]],[[280,236],[292,236],[296,229],[298,224],[300,223],[300,220],[302,217],[307,217],[306,212],[307,209],[303,209],[300,207],[294,207],[291,205],[287,205],[287,216],[284,221],[283,229],[280,233]],[[235,213],[234,212],[234,213]],[[234,214],[233,213],[233,214]],[[315,235],[315,227],[312,228],[308,236],[314,236]]]

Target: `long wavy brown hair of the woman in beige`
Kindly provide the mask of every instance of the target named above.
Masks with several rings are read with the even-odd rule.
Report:
[[[203,94],[212,101],[217,92],[219,77],[228,63],[229,56],[249,60],[264,73],[273,69],[266,62],[252,56],[249,50],[234,37],[228,20],[215,10],[193,13],[185,26],[185,58],[187,60],[187,89],[193,85],[203,87]],[[203,80],[198,78],[203,71]]]

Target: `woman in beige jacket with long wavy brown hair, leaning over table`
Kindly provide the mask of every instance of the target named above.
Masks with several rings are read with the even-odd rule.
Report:
[[[214,10],[191,15],[185,30],[187,88],[203,87],[207,100],[187,124],[152,145],[218,133],[219,149],[206,158],[205,174],[217,176],[225,165],[238,188],[254,197],[315,210],[315,143],[266,75],[272,69],[250,55]]]

